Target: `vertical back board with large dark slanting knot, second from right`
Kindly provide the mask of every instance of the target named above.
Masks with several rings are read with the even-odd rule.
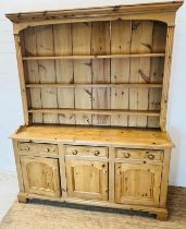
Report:
[[[151,52],[152,43],[152,22],[133,22],[132,33],[132,52]],[[131,60],[131,76],[129,82],[141,83],[144,79],[139,71],[142,71],[145,75],[149,75],[150,72],[150,59],[132,59]],[[148,109],[148,88],[129,88],[129,109]],[[147,117],[129,117],[129,126],[147,126]]]

